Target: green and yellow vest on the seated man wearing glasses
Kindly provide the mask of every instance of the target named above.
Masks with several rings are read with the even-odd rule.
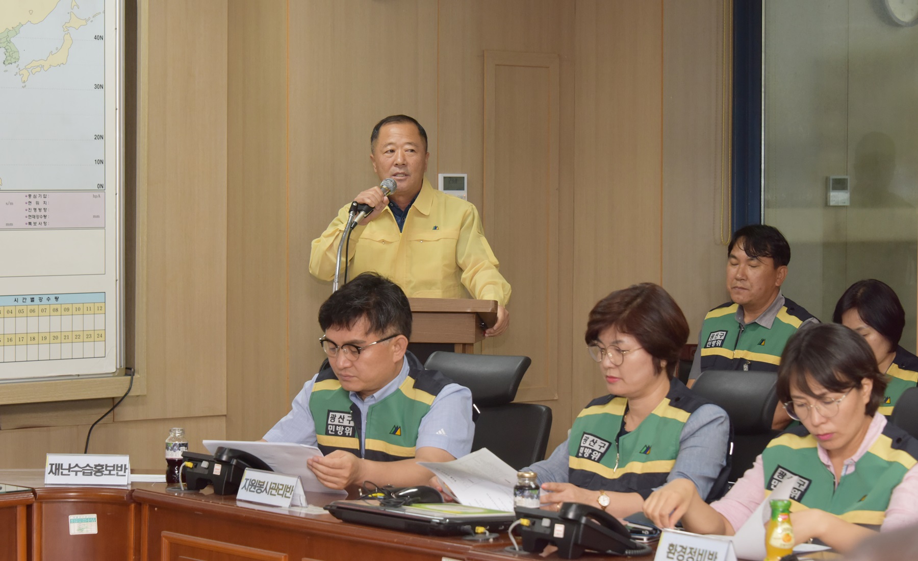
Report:
[[[309,395],[309,412],[316,423],[316,440],[322,454],[345,450],[376,462],[413,458],[420,420],[431,410],[433,399],[453,381],[437,370],[425,370],[418,359],[406,355],[409,373],[392,394],[370,406],[366,434],[360,434],[360,410],[350,392],[330,367],[323,368]],[[360,443],[364,443],[364,454]]]

